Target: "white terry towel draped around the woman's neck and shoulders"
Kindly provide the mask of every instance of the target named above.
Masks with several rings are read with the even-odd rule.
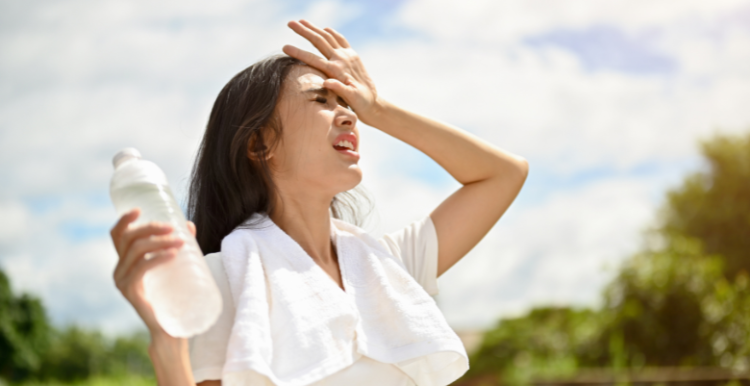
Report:
[[[419,386],[469,368],[435,301],[362,229],[331,219],[344,292],[266,215],[221,243],[236,316],[222,384],[302,386],[360,356],[393,363]]]

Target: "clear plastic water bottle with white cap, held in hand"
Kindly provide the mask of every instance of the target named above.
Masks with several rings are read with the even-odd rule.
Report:
[[[175,337],[188,338],[205,332],[221,313],[221,293],[198,243],[187,229],[187,220],[166,175],[153,162],[141,159],[133,148],[121,150],[112,163],[115,172],[110,196],[118,216],[139,207],[141,214],[136,224],[169,223],[174,235],[185,241],[175,259],[150,269],[143,278],[145,296],[156,320]]]

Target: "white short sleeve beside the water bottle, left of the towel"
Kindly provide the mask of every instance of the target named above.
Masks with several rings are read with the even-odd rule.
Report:
[[[221,292],[223,307],[219,319],[208,331],[188,340],[190,366],[196,383],[221,379],[235,313],[234,300],[220,253],[206,255],[206,264]]]

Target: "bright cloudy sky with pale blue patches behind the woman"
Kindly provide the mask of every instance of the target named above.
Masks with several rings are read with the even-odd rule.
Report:
[[[213,100],[306,18],[342,32],[379,94],[525,157],[518,199],[439,278],[456,329],[539,305],[596,307],[705,167],[750,130],[750,1],[0,1],[0,268],[58,325],[142,328],[117,292],[111,157],[133,146],[184,200]],[[365,229],[395,231],[459,184],[360,125]]]

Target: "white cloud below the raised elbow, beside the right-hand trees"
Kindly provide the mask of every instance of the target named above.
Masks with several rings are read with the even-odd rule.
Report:
[[[531,305],[597,305],[600,288],[639,247],[640,229],[653,219],[653,185],[605,179],[512,207],[439,279],[449,322],[486,327]]]

